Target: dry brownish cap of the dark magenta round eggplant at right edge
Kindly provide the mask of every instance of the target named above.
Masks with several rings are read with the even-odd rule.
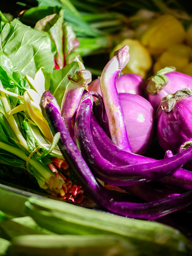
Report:
[[[189,88],[178,90],[175,94],[168,94],[161,100],[161,103],[156,112],[156,117],[161,112],[161,110],[164,110],[166,113],[171,112],[176,101],[190,97],[191,95],[192,90]]]

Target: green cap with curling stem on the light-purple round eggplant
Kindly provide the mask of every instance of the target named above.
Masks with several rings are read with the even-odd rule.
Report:
[[[159,93],[168,83],[168,78],[165,74],[175,71],[175,67],[165,67],[159,70],[154,76],[148,79],[147,92],[151,95]]]

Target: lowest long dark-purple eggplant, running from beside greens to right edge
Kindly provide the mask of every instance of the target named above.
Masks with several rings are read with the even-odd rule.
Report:
[[[121,216],[149,220],[160,218],[191,204],[192,191],[150,203],[140,204],[117,200],[94,177],[73,139],[70,137],[61,117],[60,109],[50,99],[50,92],[45,91],[40,102],[42,113],[49,124],[53,136],[60,132],[61,136],[58,142],[60,151],[85,192],[98,205]]]

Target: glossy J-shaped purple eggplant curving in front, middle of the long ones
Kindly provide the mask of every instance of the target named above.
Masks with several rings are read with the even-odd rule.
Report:
[[[99,179],[114,186],[136,185],[171,174],[190,159],[192,149],[189,149],[188,153],[185,151],[185,154],[177,154],[169,159],[127,166],[116,166],[106,160],[96,148],[91,135],[90,116],[94,103],[91,93],[84,94],[81,99],[76,113],[74,132],[79,150]]]

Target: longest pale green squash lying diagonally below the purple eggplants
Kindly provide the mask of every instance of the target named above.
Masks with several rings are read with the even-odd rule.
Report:
[[[188,255],[188,240],[177,230],[155,222],[146,222],[80,208],[50,199],[30,198],[25,214],[40,226],[57,234],[121,236],[140,255]]]

